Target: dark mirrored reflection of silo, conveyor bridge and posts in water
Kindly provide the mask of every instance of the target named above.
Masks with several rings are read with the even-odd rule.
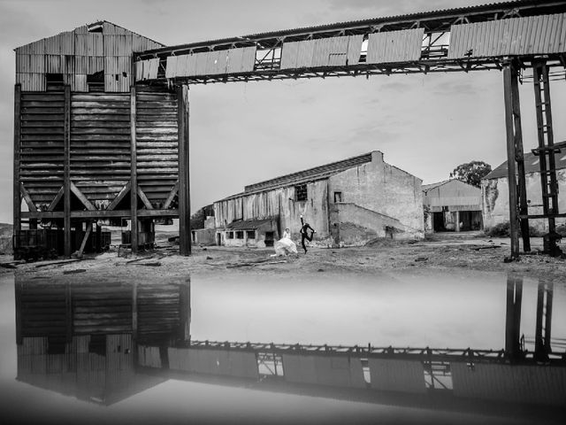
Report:
[[[463,349],[195,340],[188,280],[79,284],[23,275],[15,283],[17,379],[106,406],[174,379],[448,410],[563,408],[566,355],[563,339],[551,336],[553,283],[536,285],[534,338],[524,336],[524,279],[499,285],[507,294],[497,292],[504,349]],[[193,300],[197,316],[206,306]]]

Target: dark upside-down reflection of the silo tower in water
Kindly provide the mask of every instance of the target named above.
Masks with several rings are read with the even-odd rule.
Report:
[[[17,379],[104,405],[163,382],[138,369],[166,367],[160,352],[188,338],[188,291],[188,283],[17,276]]]

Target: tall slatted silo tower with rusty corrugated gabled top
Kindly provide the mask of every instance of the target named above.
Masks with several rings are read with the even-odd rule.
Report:
[[[102,21],[15,50],[15,245],[40,225],[68,257],[101,222],[130,220],[137,251],[179,217],[190,253],[187,87],[133,75],[134,52],[162,46]]]

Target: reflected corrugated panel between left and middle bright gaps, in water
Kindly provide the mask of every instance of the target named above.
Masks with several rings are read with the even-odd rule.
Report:
[[[365,388],[362,361],[347,356],[283,354],[285,380],[347,388]]]

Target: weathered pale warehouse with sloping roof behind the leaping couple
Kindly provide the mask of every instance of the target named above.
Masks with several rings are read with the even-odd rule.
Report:
[[[300,216],[323,246],[379,237],[421,238],[422,181],[372,151],[246,186],[214,203],[219,245],[272,246],[285,228],[299,237]]]

